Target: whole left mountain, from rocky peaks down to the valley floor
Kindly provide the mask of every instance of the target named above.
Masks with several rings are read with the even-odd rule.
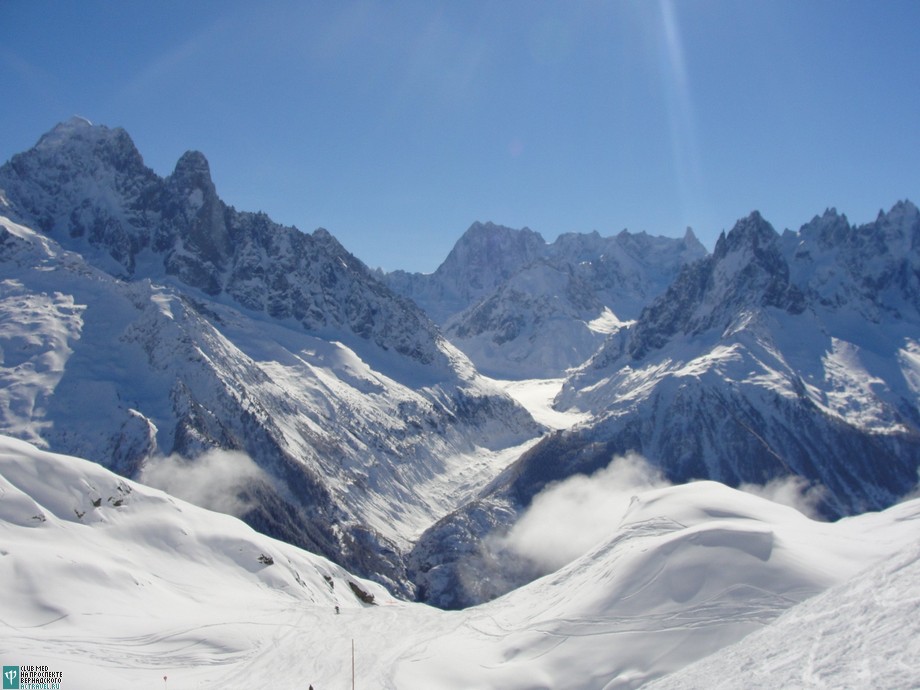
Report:
[[[250,524],[409,593],[410,539],[540,432],[328,232],[226,206],[201,154],[162,179],[74,119],[0,189],[3,433],[180,495],[209,467]]]

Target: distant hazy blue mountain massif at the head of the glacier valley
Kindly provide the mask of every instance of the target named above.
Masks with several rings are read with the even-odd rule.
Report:
[[[475,223],[432,274],[384,276],[444,327],[476,367],[498,378],[561,376],[636,318],[681,266],[706,250],[623,231],[561,235]]]

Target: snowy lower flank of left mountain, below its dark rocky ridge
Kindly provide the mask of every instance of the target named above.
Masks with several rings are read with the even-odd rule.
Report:
[[[539,431],[449,346],[457,373],[438,379],[360,338],[119,281],[5,219],[0,233],[4,433],[126,476],[242,451],[267,473],[230,485],[247,520],[400,591],[399,550]]]

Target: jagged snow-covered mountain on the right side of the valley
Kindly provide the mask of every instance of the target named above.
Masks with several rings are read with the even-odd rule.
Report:
[[[891,505],[920,466],[920,212],[852,227],[829,211],[782,236],[759,214],[687,266],[571,374],[544,438],[416,544],[431,601],[464,606],[527,579],[483,549],[544,487],[635,451],[674,482],[811,483],[827,516]],[[466,573],[491,581],[470,589]],[[531,574],[532,576],[532,574]]]

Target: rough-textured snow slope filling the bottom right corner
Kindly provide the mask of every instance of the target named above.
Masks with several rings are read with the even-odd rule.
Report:
[[[763,630],[648,687],[920,685],[920,546],[794,607]]]

